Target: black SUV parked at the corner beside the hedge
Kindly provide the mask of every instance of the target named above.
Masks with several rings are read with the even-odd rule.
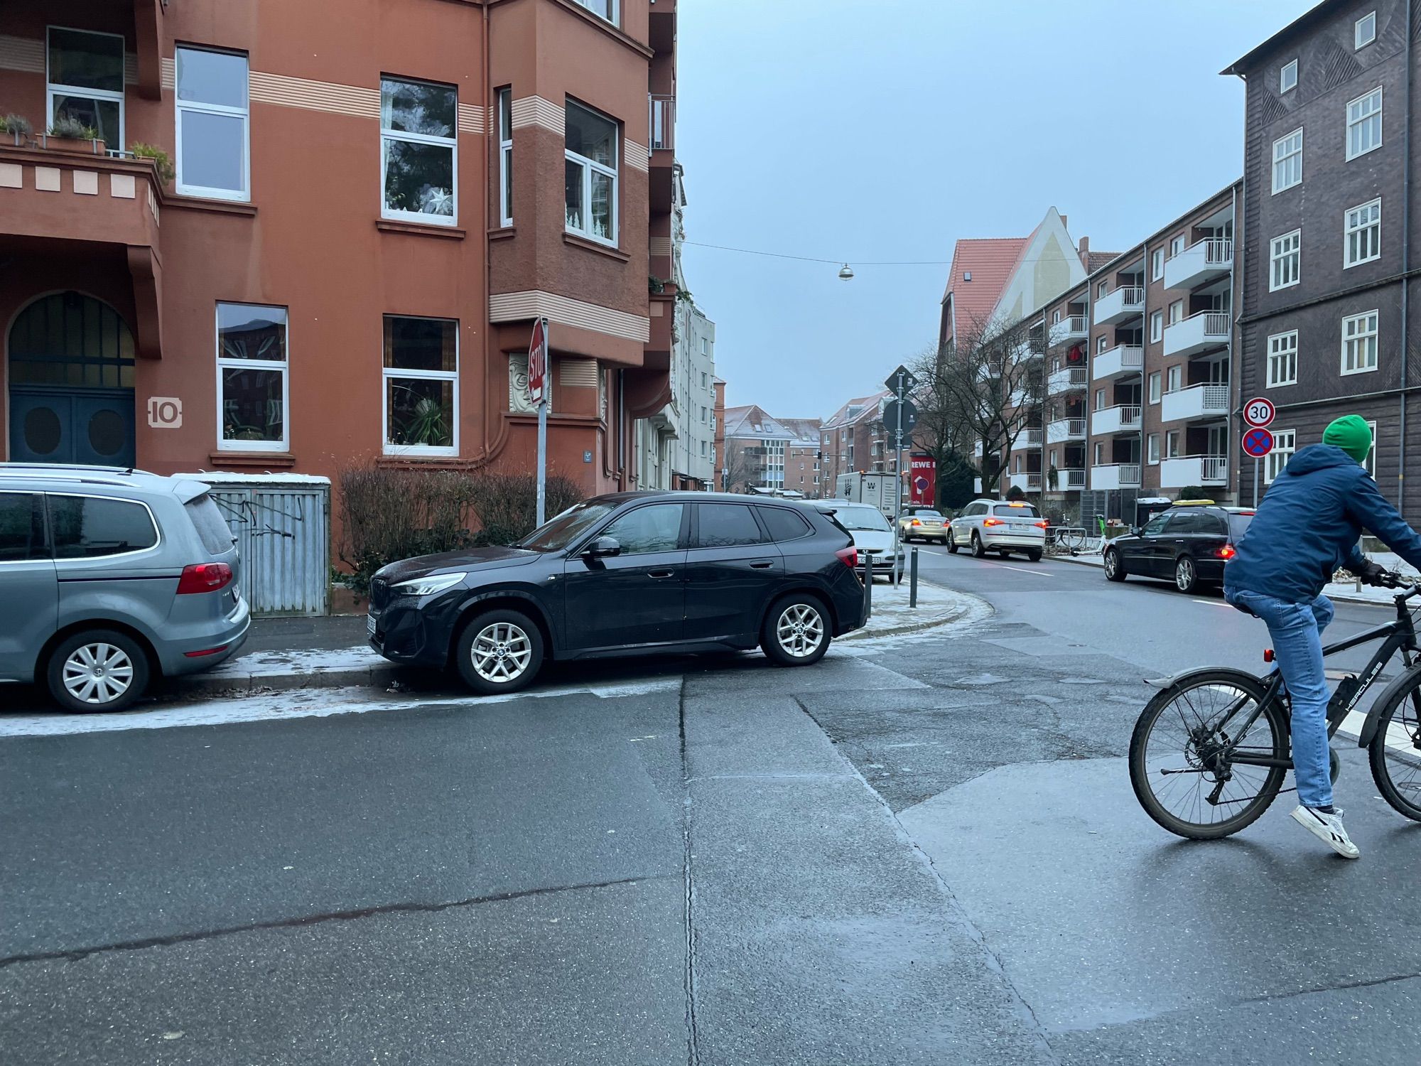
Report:
[[[803,667],[864,623],[851,544],[831,515],[784,500],[598,496],[510,547],[384,567],[369,642],[392,662],[452,664],[476,692],[524,688],[546,659],[759,644]]]

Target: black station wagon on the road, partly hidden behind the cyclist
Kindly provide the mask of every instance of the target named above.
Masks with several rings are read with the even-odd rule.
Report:
[[[1192,593],[1199,584],[1222,584],[1223,566],[1252,520],[1252,507],[1221,507],[1212,500],[1175,503],[1141,529],[1110,542],[1106,577],[1172,578],[1181,593]]]

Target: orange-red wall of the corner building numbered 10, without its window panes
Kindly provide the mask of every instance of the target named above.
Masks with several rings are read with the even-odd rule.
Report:
[[[607,6],[6,3],[0,111],[27,117],[34,135],[0,134],[0,456],[33,458],[33,448],[17,453],[17,442],[30,448],[14,414],[17,395],[33,407],[45,389],[84,387],[72,367],[68,377],[54,371],[57,381],[36,385],[31,374],[21,382],[11,350],[20,344],[17,321],[26,324],[23,344],[44,340],[34,340],[36,317],[24,316],[37,298],[77,293],[65,307],[91,297],[117,311],[132,337],[134,361],[124,372],[132,388],[131,448],[146,469],[335,475],[374,461],[529,470],[536,416],[510,389],[510,375],[522,370],[533,317],[544,316],[550,470],[588,492],[635,488],[632,419],[669,398],[675,287],[652,296],[647,276],[658,276],[661,259],[659,277],[669,273],[669,242],[652,235],[669,235],[674,161],[669,146],[652,146],[652,122],[662,124],[658,142],[669,145],[674,109],[662,104],[654,115],[649,105],[652,94],[674,101],[676,7],[620,0],[612,20],[591,10]],[[122,144],[108,144],[109,154],[41,136],[54,117],[61,65],[47,47],[51,27],[122,37]],[[183,163],[189,175],[200,163],[178,155],[179,128],[196,129],[182,126],[176,98],[182,48],[246,63],[244,196],[179,192]],[[382,131],[394,119],[382,80],[433,84],[456,98],[446,213],[391,216],[382,161],[394,149]],[[510,122],[500,115],[504,88]],[[605,166],[615,182],[612,233],[570,232],[570,107],[615,128]],[[512,225],[500,210],[509,139]],[[145,159],[111,158],[139,142],[175,158],[176,181],[162,181]],[[583,189],[604,203],[605,181],[591,181]],[[587,229],[593,203],[583,210]],[[217,365],[225,303],[286,317],[284,399],[280,409],[267,402],[264,428],[246,432],[256,439],[233,439],[233,404]],[[442,357],[442,370],[450,361],[456,370],[452,425],[421,438],[438,446],[408,446],[408,425],[395,432],[387,421],[388,316],[456,323],[453,355],[445,340]],[[72,354],[85,343],[87,335],[64,347]],[[284,441],[264,446],[277,424]],[[75,421],[65,432],[82,438],[85,426]]]

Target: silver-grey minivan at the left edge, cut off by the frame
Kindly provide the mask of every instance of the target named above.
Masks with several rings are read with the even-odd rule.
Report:
[[[247,637],[237,550],[207,485],[0,463],[0,682],[119,711]]]

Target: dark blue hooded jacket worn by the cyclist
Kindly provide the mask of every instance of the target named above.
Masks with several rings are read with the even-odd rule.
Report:
[[[1421,570],[1421,537],[1371,475],[1336,445],[1309,445],[1273,479],[1258,515],[1223,567],[1231,590],[1310,603],[1337,567],[1357,573],[1361,530]]]

